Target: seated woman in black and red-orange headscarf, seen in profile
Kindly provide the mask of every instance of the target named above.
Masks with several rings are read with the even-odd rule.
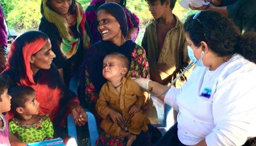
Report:
[[[55,136],[67,138],[63,128],[67,115],[72,113],[75,121],[81,121],[76,122],[78,126],[85,124],[87,115],[75,93],[61,81],[52,63],[54,57],[48,36],[40,31],[29,31],[12,43],[7,68],[2,74],[10,77],[9,88],[19,85],[32,87],[40,103],[39,114],[50,114]],[[8,112],[7,118],[12,119],[13,115],[13,112]]]

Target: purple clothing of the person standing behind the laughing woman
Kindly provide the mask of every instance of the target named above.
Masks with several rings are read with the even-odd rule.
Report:
[[[86,21],[88,23],[88,26],[91,30],[91,39],[93,41],[93,44],[101,40],[101,35],[99,34],[97,30],[97,9],[105,3],[105,0],[92,0],[90,5],[86,8],[85,14],[86,14]],[[125,10],[125,15],[127,17],[127,24],[128,24],[128,30],[132,27],[136,27],[135,32],[132,35],[132,41],[134,42],[138,36],[139,33],[139,18],[129,11],[127,8]]]

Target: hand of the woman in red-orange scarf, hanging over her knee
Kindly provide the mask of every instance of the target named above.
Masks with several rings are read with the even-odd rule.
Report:
[[[79,104],[72,108],[72,115],[76,126],[82,126],[87,122],[87,115]]]

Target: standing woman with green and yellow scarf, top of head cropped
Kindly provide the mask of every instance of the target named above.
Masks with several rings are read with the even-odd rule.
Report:
[[[90,46],[83,8],[75,0],[42,0],[41,13],[39,30],[49,36],[53,62],[68,85]]]

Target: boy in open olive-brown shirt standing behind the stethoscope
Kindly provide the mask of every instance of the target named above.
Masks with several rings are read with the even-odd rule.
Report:
[[[176,0],[146,0],[155,19],[145,31],[142,47],[146,50],[150,79],[168,85],[189,64],[182,22],[172,13]],[[185,73],[174,84],[181,87],[189,75]],[[176,123],[174,114],[174,122]]]

